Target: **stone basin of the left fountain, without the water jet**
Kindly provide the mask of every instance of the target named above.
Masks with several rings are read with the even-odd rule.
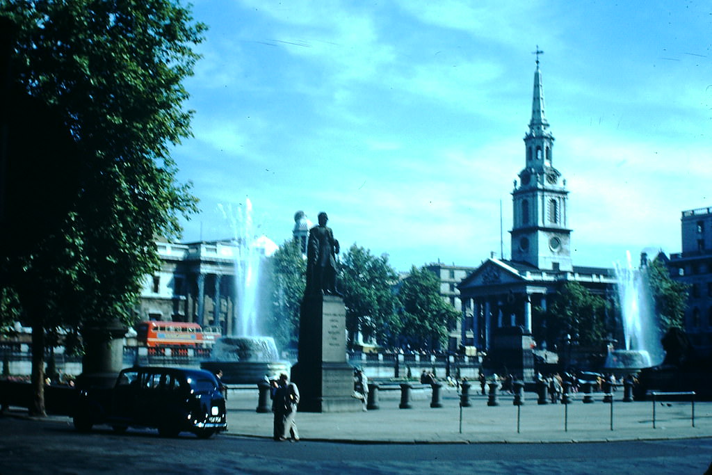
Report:
[[[200,363],[210,372],[223,372],[222,381],[228,385],[257,384],[280,373],[289,375],[291,364],[279,360],[279,353],[271,337],[225,336],[215,342],[210,360]]]

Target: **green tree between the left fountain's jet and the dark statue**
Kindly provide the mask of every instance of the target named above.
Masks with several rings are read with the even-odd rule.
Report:
[[[285,241],[268,260],[271,278],[269,327],[279,348],[295,348],[299,338],[299,312],[306,286],[307,264],[300,244]]]

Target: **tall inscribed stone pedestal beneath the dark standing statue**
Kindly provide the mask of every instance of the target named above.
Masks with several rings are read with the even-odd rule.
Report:
[[[299,356],[292,381],[302,412],[357,412],[353,368],[346,359],[346,308],[337,296],[305,296],[299,320]]]

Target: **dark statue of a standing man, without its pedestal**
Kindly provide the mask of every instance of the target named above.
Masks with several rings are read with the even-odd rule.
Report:
[[[326,225],[329,216],[319,213],[319,225],[309,230],[307,249],[307,293],[341,296],[336,290],[336,254],[339,241]]]

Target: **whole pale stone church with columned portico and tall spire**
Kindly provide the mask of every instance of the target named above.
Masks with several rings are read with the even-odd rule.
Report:
[[[531,333],[533,308],[546,308],[565,281],[607,295],[616,282],[612,268],[575,266],[571,259],[566,180],[554,167],[554,136],[545,116],[539,60],[534,73],[532,115],[524,137],[524,167],[512,190],[511,259],[483,261],[458,286],[462,301],[462,340],[488,350],[497,328]],[[562,335],[563,337],[563,335]],[[537,342],[553,346],[557,342]]]

